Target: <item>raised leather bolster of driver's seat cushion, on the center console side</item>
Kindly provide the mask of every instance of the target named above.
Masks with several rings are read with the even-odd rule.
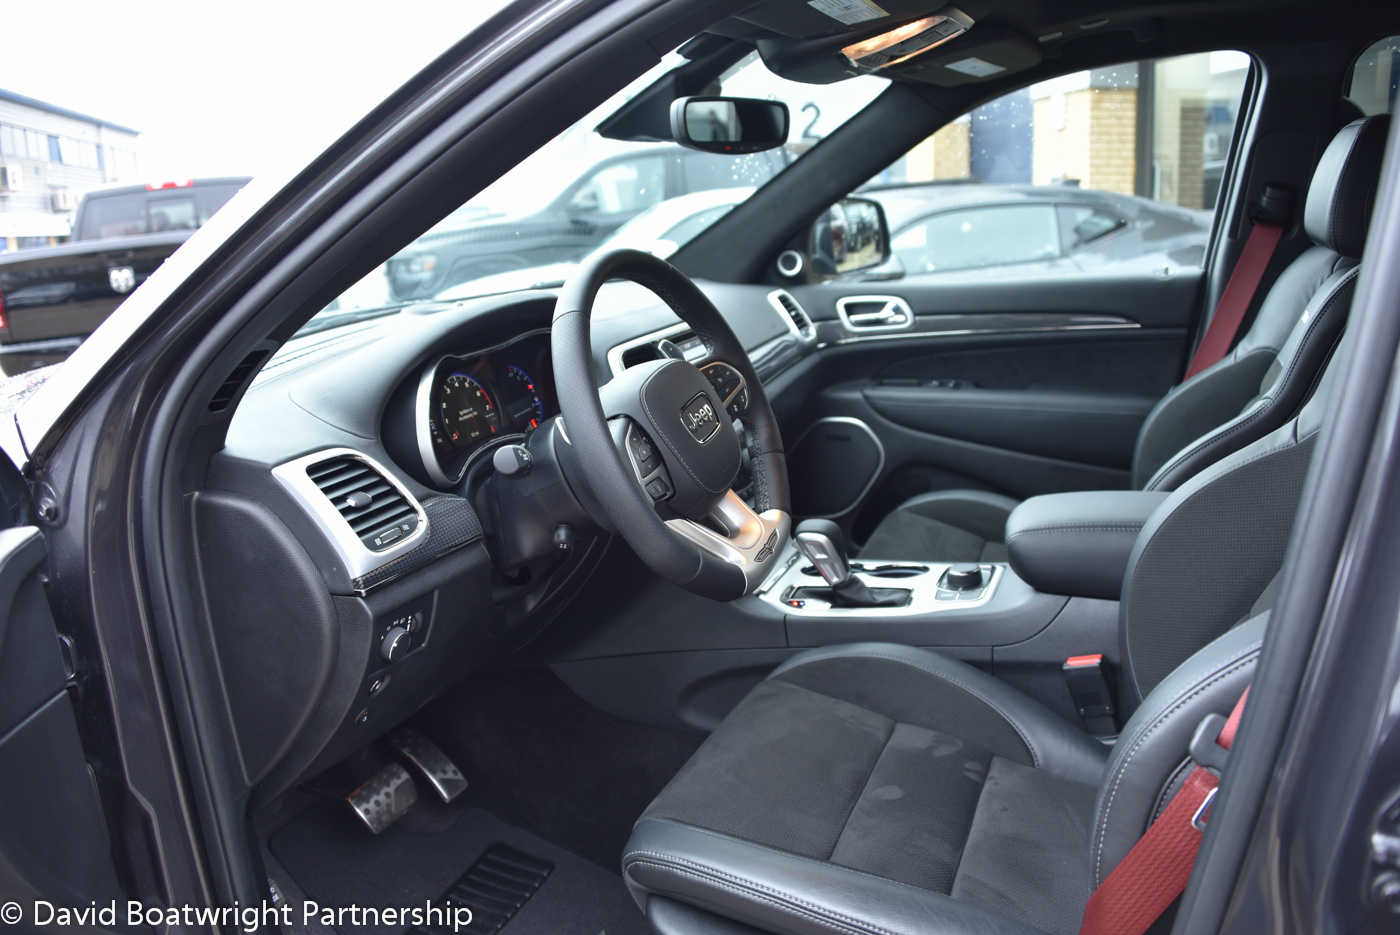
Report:
[[[1054,775],[1096,785],[1103,775],[1107,749],[1084,731],[1054,714],[1040,703],[1016,690],[1007,682],[995,679],[966,662],[951,659],[938,652],[895,642],[851,642],[837,647],[808,649],[792,656],[769,676],[770,679],[792,679],[802,668],[812,668],[832,661],[881,659],[907,666],[910,672],[923,673],[928,680],[941,680],[973,696],[987,710],[1007,721],[1021,735],[1030,750],[1032,764]],[[812,691],[850,701],[868,710],[900,719],[899,712],[881,711],[881,693],[893,691],[890,680],[858,677],[860,686],[843,684],[830,679],[826,684],[804,677],[802,684]],[[862,696],[853,689],[860,687]],[[890,703],[895,703],[890,698]],[[927,698],[925,698],[927,703]],[[931,729],[956,732],[958,725],[921,725]]]

